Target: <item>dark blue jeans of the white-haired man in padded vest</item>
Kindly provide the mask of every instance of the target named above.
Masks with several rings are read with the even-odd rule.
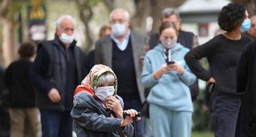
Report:
[[[42,137],[67,136],[72,137],[73,119],[70,111],[44,111],[40,110]]]

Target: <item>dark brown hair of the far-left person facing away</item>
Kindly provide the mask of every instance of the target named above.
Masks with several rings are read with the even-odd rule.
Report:
[[[20,44],[18,53],[20,58],[31,58],[36,52],[36,44],[32,41]]]

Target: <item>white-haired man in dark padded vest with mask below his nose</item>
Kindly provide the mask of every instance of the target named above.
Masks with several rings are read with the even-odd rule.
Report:
[[[72,16],[61,16],[55,39],[38,44],[30,78],[38,89],[42,136],[72,136],[73,94],[85,76],[86,59],[74,40],[75,25]]]

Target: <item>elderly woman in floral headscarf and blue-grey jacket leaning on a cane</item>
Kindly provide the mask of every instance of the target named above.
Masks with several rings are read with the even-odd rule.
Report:
[[[117,95],[117,77],[113,70],[95,65],[77,86],[71,116],[77,136],[133,136],[134,109],[124,111],[123,100]],[[137,120],[140,120],[138,117]]]

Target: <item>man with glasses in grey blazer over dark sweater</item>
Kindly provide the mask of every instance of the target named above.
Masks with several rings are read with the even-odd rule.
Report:
[[[124,109],[133,108],[140,112],[145,96],[139,59],[147,36],[130,30],[130,23],[126,10],[117,8],[110,13],[112,33],[96,42],[95,64],[113,69],[118,77],[118,93],[123,98]],[[138,136],[144,136],[143,118],[137,121],[137,129]]]

